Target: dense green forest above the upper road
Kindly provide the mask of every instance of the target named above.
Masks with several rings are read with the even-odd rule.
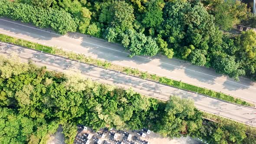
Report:
[[[236,0],[1,0],[7,16],[58,33],[121,43],[130,56],[184,59],[239,80],[256,80],[256,15]]]

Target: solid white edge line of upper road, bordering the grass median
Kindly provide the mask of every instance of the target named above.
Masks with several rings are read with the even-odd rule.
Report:
[[[0,32],[0,33],[3,33],[3,32]],[[9,34],[9,33],[4,33],[4,34],[10,35],[10,36],[14,36],[14,35]],[[21,39],[26,39],[26,38],[23,38],[23,37],[20,37],[20,36],[14,36],[14,37],[18,37],[18,38],[21,38]],[[35,41],[35,40],[31,40],[31,39],[27,39],[27,40],[33,41],[33,42],[36,42],[36,43],[41,43],[41,42],[38,42],[38,41]],[[41,43],[41,44],[45,44],[45,43]],[[48,44],[45,44],[45,45],[46,45],[46,46],[54,47],[54,46],[48,45]],[[57,47],[57,48],[60,48],[60,47]],[[63,49],[63,50],[72,52],[72,50],[69,50],[69,49]],[[75,53],[83,54],[83,53],[80,53],[80,52],[75,52]],[[83,55],[89,56],[89,55],[86,55],[86,54],[83,54]],[[91,57],[92,57],[92,58],[95,58],[95,59],[101,59],[101,58],[97,58],[97,57],[95,57],[95,56],[91,56]],[[107,61],[107,62],[111,62],[111,61],[108,61],[108,60],[105,60],[105,59],[101,59],[101,60]],[[118,63],[118,62],[112,62],[112,63],[115,63],[115,64],[117,64],[117,65],[126,66],[126,67],[131,67],[131,68],[133,68],[133,69],[136,69],[135,67],[132,67],[132,66],[129,66],[129,65],[124,65],[124,64],[121,64],[121,63]],[[142,70],[142,71],[144,71],[144,72],[149,72],[149,73],[152,73],[152,74],[156,74],[156,75],[160,75],[160,76],[165,76],[165,77],[167,77],[167,78],[174,79],[174,80],[178,80],[178,81],[181,80],[181,79],[177,79],[177,78],[175,78],[175,77],[171,77],[171,76],[168,76],[168,75],[162,75],[162,74],[155,73],[155,72],[151,72],[151,71],[147,71],[147,70],[144,70],[144,69],[139,69],[139,70]],[[199,87],[202,87],[202,85],[194,84],[194,83],[191,83],[191,82],[188,82],[188,81],[182,80],[182,82],[186,82],[186,83],[188,83],[188,84],[193,84],[193,85],[197,85],[197,86],[199,86]],[[207,86],[204,86],[204,88],[212,89],[212,90],[214,90],[214,91],[216,91],[216,92],[219,92],[219,90],[214,89],[214,88],[209,88],[209,87],[207,87]],[[230,93],[227,93],[227,92],[223,92],[223,93],[228,94],[228,95],[233,95],[233,96],[235,96],[235,97],[237,97],[237,98],[243,98],[243,97],[241,97],[241,96],[234,95],[234,94],[230,94]],[[248,101],[253,101],[253,100],[248,99],[248,98],[243,98],[243,99],[246,99],[246,100],[248,100]],[[253,102],[256,102],[256,101],[253,101]]]

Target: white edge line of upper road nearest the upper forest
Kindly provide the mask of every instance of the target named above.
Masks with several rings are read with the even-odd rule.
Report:
[[[3,19],[0,19],[0,20],[3,20]],[[9,20],[4,20],[4,21],[10,22],[10,23],[14,23],[14,22],[11,22]],[[26,26],[26,25],[23,25],[23,24],[20,24],[20,23],[15,23],[15,24],[18,24],[18,25],[21,25],[21,26]],[[31,26],[26,26],[26,27],[30,27],[32,29],[37,29],[37,28],[31,27]],[[46,33],[51,33],[51,32],[48,32],[48,31],[45,31],[45,30],[42,30],[42,29],[37,29],[37,30],[41,30],[41,31],[46,32]],[[60,34],[57,34],[57,33],[52,33],[52,34],[56,34],[58,36],[63,36],[63,35],[60,35]],[[69,39],[74,39],[74,38],[71,38],[71,37],[68,37],[68,36],[64,36],[64,37],[67,37]],[[85,42],[85,41],[82,41],[82,40],[79,40],[79,39],[74,39],[74,40],[80,41],[80,42],[84,42],[84,43],[89,43],[89,42]],[[95,46],[100,46],[100,45],[97,45],[97,44],[94,44],[94,43],[89,43],[89,44],[92,44],[92,45],[95,45]],[[108,47],[105,47],[105,46],[100,46],[100,47],[103,47],[103,48],[106,48],[106,49],[111,49],[111,48],[108,48]],[[123,51],[116,50],[116,49],[112,49],[112,50],[117,51],[117,52],[123,52]],[[128,52],[123,52],[123,53],[130,54]],[[145,58],[145,57],[142,57],[142,56],[138,56],[138,57],[141,57],[143,59],[149,59],[151,61],[157,61],[157,60],[150,59],[150,58]],[[161,61],[159,61],[159,62],[161,62]],[[166,63],[166,62],[161,62],[161,63],[167,64],[167,65],[172,65],[172,64]],[[177,65],[172,65],[172,66],[175,66],[175,67],[178,67],[178,68],[182,68],[182,69],[187,69],[187,68],[183,68],[182,66],[177,66]],[[192,69],[187,69],[187,70],[198,72],[198,71],[195,71],[195,70],[192,70]],[[212,76],[214,78],[222,79],[222,80],[225,80],[225,81],[228,81],[228,82],[233,82],[233,81],[230,81],[228,79],[223,79],[223,78],[220,78],[220,77],[217,77],[217,76],[214,76],[214,75],[209,75],[209,74],[206,74],[206,73],[203,73],[203,72],[198,72],[198,73],[201,73],[201,74],[204,74],[204,75],[208,75],[208,76]],[[233,82],[233,83],[236,83],[238,85],[243,85],[243,84],[240,84],[240,83],[237,83],[237,82]],[[253,87],[250,87],[249,85],[243,85],[243,86],[246,86],[246,87],[249,87],[249,88],[253,88]],[[253,88],[253,89],[256,89],[256,88]]]

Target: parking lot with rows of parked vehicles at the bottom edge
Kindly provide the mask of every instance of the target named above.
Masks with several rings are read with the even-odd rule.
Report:
[[[90,128],[78,125],[74,144],[200,144],[200,142],[190,137],[164,138],[147,128],[136,131],[103,128],[100,131],[92,131]]]

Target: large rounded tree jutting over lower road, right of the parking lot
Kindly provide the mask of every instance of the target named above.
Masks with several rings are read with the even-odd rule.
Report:
[[[196,117],[191,117],[193,115]],[[188,124],[184,119],[196,122]],[[201,122],[200,112],[196,110],[192,100],[172,96],[167,102],[163,118],[159,119],[159,133],[169,137],[180,137],[181,133],[196,132]]]

